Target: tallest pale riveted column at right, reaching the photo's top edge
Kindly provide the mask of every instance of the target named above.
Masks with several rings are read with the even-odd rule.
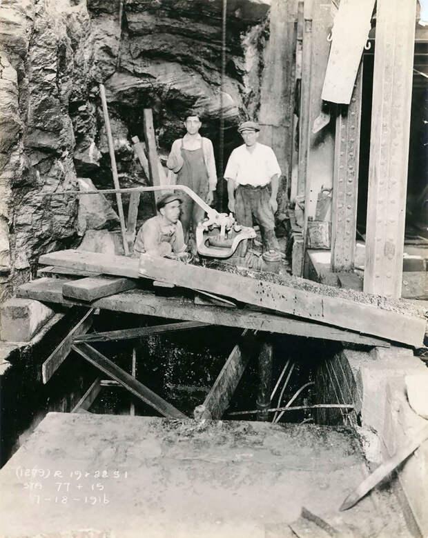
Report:
[[[400,297],[416,2],[378,0],[364,292]]]

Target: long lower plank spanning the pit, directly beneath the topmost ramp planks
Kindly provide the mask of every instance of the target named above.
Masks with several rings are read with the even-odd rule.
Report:
[[[64,280],[39,279],[23,284],[17,290],[18,297],[36,299],[48,303],[79,305],[79,301],[66,299],[62,295]],[[211,325],[248,328],[277,332],[284,335],[296,335],[306,338],[360,343],[363,346],[386,346],[389,342],[360,335],[358,332],[342,330],[322,325],[313,321],[302,321],[268,312],[259,312],[251,308],[222,308],[216,306],[196,306],[190,299],[179,301],[167,297],[159,297],[144,290],[130,290],[117,295],[110,295],[94,301],[93,306],[114,312],[163,317],[167,319],[186,319],[200,321]]]

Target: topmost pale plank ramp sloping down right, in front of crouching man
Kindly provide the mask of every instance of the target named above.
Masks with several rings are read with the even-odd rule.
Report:
[[[387,310],[379,305],[380,301],[364,303],[363,294],[362,302],[344,299],[335,288],[309,281],[301,288],[293,280],[285,286],[150,255],[137,260],[65,250],[43,255],[39,262],[131,278],[144,276],[415,347],[422,346],[425,335],[422,317]],[[358,293],[353,292],[353,297]]]

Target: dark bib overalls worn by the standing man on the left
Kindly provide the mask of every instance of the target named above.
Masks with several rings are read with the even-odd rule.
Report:
[[[190,187],[204,201],[208,195],[208,171],[204,161],[202,148],[197,150],[185,150],[182,143],[182,157],[184,160],[182,169],[177,174],[177,185]],[[180,193],[183,199],[182,215],[180,220],[183,225],[184,243],[188,242],[191,225],[193,233],[197,224],[204,219],[204,210],[191,199],[190,196]]]

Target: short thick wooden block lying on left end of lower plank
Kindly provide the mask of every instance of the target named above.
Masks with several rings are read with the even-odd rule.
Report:
[[[95,301],[122,291],[137,288],[137,281],[121,277],[88,277],[64,284],[62,295],[79,301]]]

